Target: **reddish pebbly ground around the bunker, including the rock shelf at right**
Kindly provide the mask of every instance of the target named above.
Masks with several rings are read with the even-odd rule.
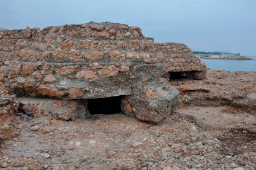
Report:
[[[0,169],[255,169],[256,71],[170,80],[176,114],[149,124],[123,114],[75,121],[18,113]]]

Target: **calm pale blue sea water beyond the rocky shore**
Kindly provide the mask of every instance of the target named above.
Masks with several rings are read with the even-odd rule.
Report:
[[[227,60],[227,59],[201,59],[210,69],[235,71],[256,71],[256,57],[254,60]]]

